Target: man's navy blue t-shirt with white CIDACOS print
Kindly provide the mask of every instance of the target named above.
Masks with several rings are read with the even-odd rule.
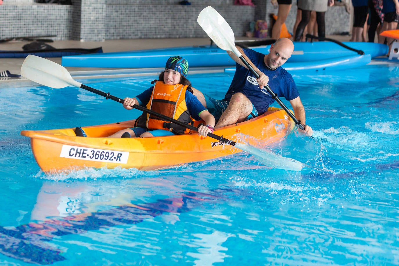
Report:
[[[275,70],[269,69],[265,65],[265,55],[263,53],[258,53],[252,49],[243,50],[249,60],[269,77],[268,85],[277,97],[284,97],[286,100],[292,100],[299,96],[298,89],[290,73],[282,67],[278,67]],[[269,105],[272,104],[275,99],[271,97],[266,89],[259,88],[255,75],[253,75],[249,69],[239,64],[236,64],[236,68],[233,81],[223,100],[230,100],[234,93],[240,92],[252,102],[259,114],[266,112]]]

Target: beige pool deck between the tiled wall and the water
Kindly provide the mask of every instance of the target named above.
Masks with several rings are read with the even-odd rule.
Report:
[[[349,41],[349,35],[326,36],[338,41]],[[245,37],[237,37],[236,40],[245,40]],[[22,51],[22,46],[32,41],[8,41],[0,43],[0,50]],[[105,41],[54,41],[48,43],[55,48],[96,48],[103,47],[103,52],[132,51],[140,49],[154,49],[161,47],[179,47],[191,45],[209,45],[209,38],[169,38],[169,39],[119,39]],[[25,58],[2,58],[0,59],[0,71],[10,71],[12,74],[20,74],[21,65]],[[55,63],[61,64],[61,57],[47,58]],[[75,72],[109,72],[122,69],[97,68],[97,67],[66,67],[71,73]],[[123,72],[123,71],[122,71]],[[23,78],[1,78],[0,82],[24,80]]]

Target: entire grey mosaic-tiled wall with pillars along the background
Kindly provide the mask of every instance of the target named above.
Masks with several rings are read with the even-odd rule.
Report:
[[[0,39],[56,35],[53,39],[102,41],[104,39],[206,37],[197,23],[199,12],[213,6],[236,36],[244,36],[249,22],[269,21],[277,13],[270,0],[253,0],[257,7],[233,5],[234,0],[72,0],[72,5],[37,4],[35,0],[4,0],[0,6]],[[293,1],[295,2],[295,1]],[[326,14],[326,34],[349,32],[349,14],[334,6]],[[292,32],[294,3],[286,20]],[[154,40],[158,41],[158,40]]]

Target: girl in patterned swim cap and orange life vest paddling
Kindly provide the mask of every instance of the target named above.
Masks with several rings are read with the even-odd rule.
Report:
[[[154,85],[134,98],[125,98],[123,107],[132,110],[134,104],[139,104],[185,124],[194,124],[193,118],[195,120],[202,119],[206,126],[201,124],[198,127],[198,133],[202,136],[206,136],[209,132],[212,133],[215,118],[193,95],[191,83],[186,79],[187,72],[188,62],[186,59],[180,56],[170,57],[158,80],[151,82]],[[133,128],[120,130],[109,137],[146,138],[184,134],[189,131],[187,128],[143,112],[136,119]],[[85,135],[81,128],[76,128],[75,133],[76,136]]]

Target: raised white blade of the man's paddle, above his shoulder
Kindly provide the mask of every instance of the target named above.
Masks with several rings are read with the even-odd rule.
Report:
[[[217,46],[241,57],[234,44],[234,32],[230,25],[213,7],[207,6],[198,15],[197,22]]]

